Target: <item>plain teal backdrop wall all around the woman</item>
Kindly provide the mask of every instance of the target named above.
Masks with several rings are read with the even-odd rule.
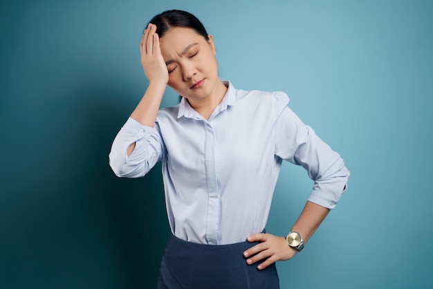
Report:
[[[142,30],[172,8],[214,36],[222,79],[285,91],[351,170],[304,251],[277,264],[282,288],[433,288],[433,1],[420,0],[1,1],[0,288],[156,287],[160,164],[118,179],[108,153],[147,87]],[[176,102],[168,89],[162,105]],[[271,234],[312,185],[284,164]]]

